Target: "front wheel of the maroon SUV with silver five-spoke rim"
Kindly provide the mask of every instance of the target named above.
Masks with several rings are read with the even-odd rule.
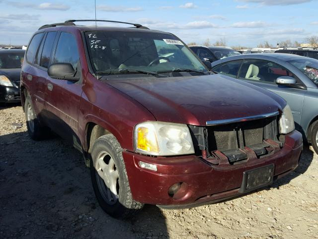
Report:
[[[93,144],[90,177],[100,207],[114,218],[129,218],[143,208],[133,200],[122,148],[111,134],[99,137]]]

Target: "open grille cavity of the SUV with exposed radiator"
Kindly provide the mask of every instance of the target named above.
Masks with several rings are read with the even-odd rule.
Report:
[[[278,139],[277,120],[275,116],[205,127],[189,125],[189,128],[198,156],[202,156],[204,150],[207,157],[221,152],[230,163],[235,163],[247,159],[248,153],[244,152],[249,149],[254,151],[258,158],[269,155],[274,146],[268,142],[277,142],[282,146]],[[275,147],[277,148],[276,144]]]

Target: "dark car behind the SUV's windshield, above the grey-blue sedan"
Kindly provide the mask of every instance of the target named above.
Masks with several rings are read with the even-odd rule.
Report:
[[[240,55],[238,51],[227,46],[189,46],[190,49],[203,61],[214,62],[230,56]]]

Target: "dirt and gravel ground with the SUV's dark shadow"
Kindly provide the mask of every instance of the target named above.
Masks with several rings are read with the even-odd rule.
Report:
[[[317,199],[318,156],[307,146],[296,171],[272,187],[194,209],[148,205],[115,220],[98,206],[76,149],[58,137],[31,140],[22,108],[0,108],[1,239],[318,238]]]

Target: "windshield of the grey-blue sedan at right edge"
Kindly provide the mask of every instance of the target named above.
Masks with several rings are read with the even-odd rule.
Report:
[[[318,86],[318,60],[308,58],[292,60],[289,63],[297,67]]]

